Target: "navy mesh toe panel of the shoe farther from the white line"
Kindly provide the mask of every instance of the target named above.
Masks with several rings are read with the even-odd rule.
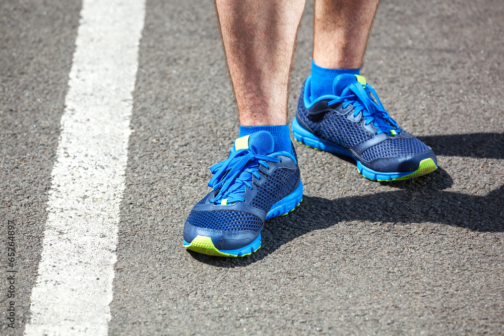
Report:
[[[429,148],[416,138],[389,139],[362,152],[362,159],[371,162],[378,158],[404,157],[421,153]]]

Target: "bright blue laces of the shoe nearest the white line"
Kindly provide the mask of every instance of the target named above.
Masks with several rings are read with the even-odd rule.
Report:
[[[244,202],[245,198],[241,195],[246,191],[244,186],[252,190],[254,187],[251,184],[252,176],[261,179],[259,174],[259,165],[263,165],[268,169],[267,161],[280,162],[270,155],[255,154],[248,149],[234,150],[231,148],[229,158],[222,162],[216,163],[210,167],[210,171],[214,176],[208,182],[208,186],[217,189],[219,192],[210,202],[215,204],[225,204],[233,202]]]

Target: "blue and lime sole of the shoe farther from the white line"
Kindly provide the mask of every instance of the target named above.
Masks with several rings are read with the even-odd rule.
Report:
[[[418,176],[422,176],[428,173],[433,172],[437,169],[437,165],[434,163],[432,159],[425,159],[420,161],[418,168],[414,171],[406,172],[406,173],[383,173],[379,171],[375,171],[365,167],[359,159],[357,159],[350,151],[344,149],[341,146],[336,145],[333,142],[330,142],[325,139],[321,139],[303,128],[297,122],[297,118],[294,117],[292,119],[292,133],[294,138],[300,143],[305,145],[306,147],[313,148],[318,151],[325,151],[329,153],[336,153],[340,155],[344,155],[350,157],[355,160],[357,164],[357,170],[362,176],[371,180],[371,181],[399,181],[406,180]]]

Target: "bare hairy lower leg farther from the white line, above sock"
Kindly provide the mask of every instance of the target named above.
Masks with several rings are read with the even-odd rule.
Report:
[[[323,68],[358,69],[380,0],[315,0],[313,60]]]

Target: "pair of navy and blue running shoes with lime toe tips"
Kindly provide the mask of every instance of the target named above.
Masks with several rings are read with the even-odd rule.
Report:
[[[343,74],[334,95],[310,98],[310,77],[292,120],[294,138],[326,152],[353,158],[364,177],[395,181],[434,171],[430,147],[399,127],[364,77]],[[261,247],[261,230],[272,217],[287,215],[303,196],[294,147],[274,152],[267,131],[238,138],[229,158],[210,168],[212,190],[185,221],[183,246],[215,256],[248,255]]]

